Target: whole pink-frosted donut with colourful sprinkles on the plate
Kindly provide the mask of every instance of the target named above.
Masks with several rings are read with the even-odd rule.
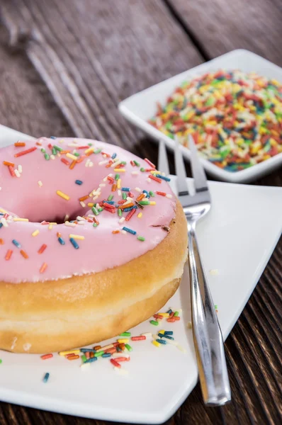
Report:
[[[0,348],[86,346],[163,307],[187,257],[168,181],[148,159],[96,140],[0,149]]]

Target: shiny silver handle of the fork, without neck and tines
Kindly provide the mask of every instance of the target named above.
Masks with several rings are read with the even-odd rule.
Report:
[[[221,406],[231,399],[223,339],[198,250],[195,222],[187,226],[193,339],[203,400],[206,405]]]

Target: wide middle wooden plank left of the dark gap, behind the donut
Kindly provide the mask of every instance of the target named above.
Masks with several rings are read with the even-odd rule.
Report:
[[[16,0],[4,16],[15,44],[31,28],[27,55],[77,136],[132,148],[118,101],[201,63],[162,2]]]

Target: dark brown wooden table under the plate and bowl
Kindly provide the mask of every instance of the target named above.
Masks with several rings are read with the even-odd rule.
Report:
[[[238,47],[282,66],[281,0],[2,0],[0,8],[0,123],[38,137],[96,137],[153,162],[157,146],[118,113],[123,98]],[[281,186],[282,172],[255,184]],[[281,424],[281,263],[282,240],[227,339],[232,403],[205,409],[197,385],[167,424]],[[0,424],[105,422],[0,403]]]

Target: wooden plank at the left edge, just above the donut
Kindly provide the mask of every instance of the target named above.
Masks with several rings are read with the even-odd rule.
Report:
[[[50,131],[73,135],[24,52],[10,51],[8,39],[0,28],[0,123],[38,137]]]

